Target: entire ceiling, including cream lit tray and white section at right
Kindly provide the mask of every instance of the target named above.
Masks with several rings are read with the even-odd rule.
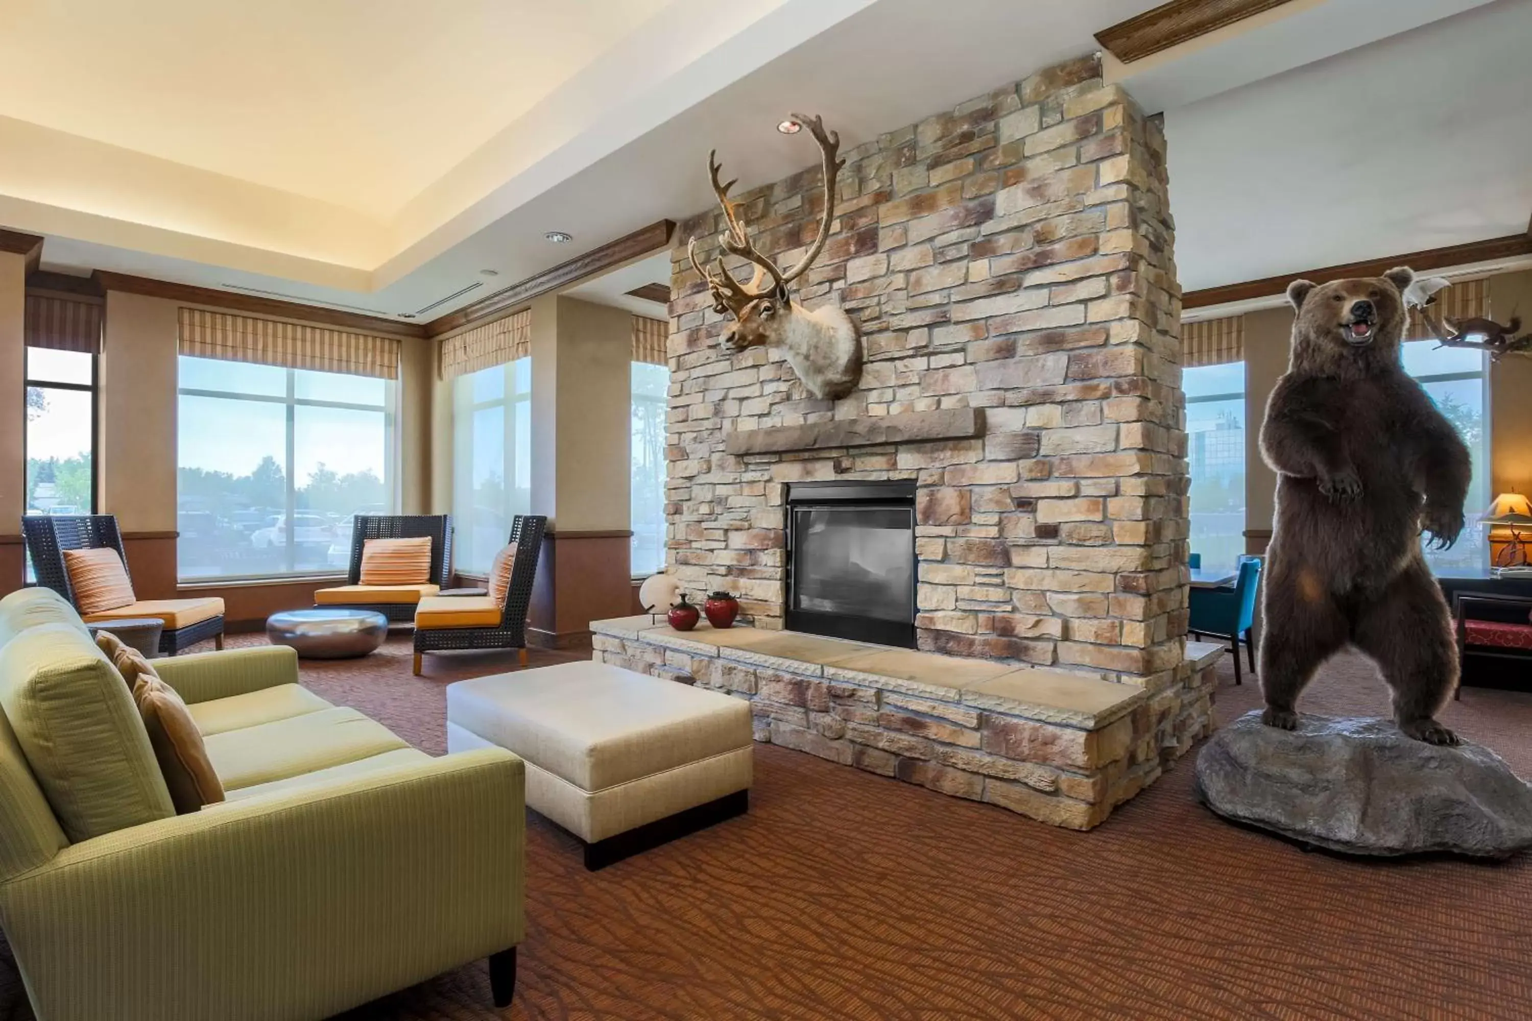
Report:
[[[1187,289],[1526,228],[1532,0],[1397,0],[1370,32],[1340,17],[1368,2],[1293,0],[1278,11],[1331,20],[1226,31],[1242,41],[1177,47],[1140,78],[1196,96],[1166,110]],[[116,6],[133,14],[26,5],[21,34],[0,34],[0,227],[46,234],[44,265],[66,271],[424,320],[706,208],[709,147],[741,188],[809,165],[812,144],[772,130],[787,110],[850,147],[1092,52],[1155,3]],[[1328,57],[1313,37],[1336,24],[1357,47]]]

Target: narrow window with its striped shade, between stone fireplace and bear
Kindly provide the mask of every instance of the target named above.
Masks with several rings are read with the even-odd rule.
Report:
[[[1246,551],[1244,318],[1184,323],[1190,548],[1232,569]]]

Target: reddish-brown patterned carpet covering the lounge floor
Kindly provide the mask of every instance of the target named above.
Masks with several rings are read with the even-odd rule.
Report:
[[[408,655],[394,640],[305,683],[437,753],[444,684],[509,658],[417,680]],[[1218,700],[1229,719],[1259,695],[1226,663]],[[1344,657],[1304,709],[1382,713],[1386,693]],[[1445,719],[1532,775],[1532,695],[1468,689]],[[748,816],[594,874],[533,816],[506,1016],[1532,1016],[1532,859],[1305,854],[1212,817],[1190,775],[1080,834],[758,745]],[[0,969],[0,1018],[31,1018],[8,952]],[[483,963],[345,1015],[496,1016]]]

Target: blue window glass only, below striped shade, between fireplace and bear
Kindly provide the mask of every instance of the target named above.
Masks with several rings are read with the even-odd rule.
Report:
[[[1244,363],[1186,369],[1190,546],[1204,568],[1232,568],[1246,551]]]

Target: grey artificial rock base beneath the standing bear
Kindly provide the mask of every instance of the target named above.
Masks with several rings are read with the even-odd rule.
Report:
[[[1532,846],[1532,787],[1498,755],[1414,741],[1386,719],[1301,716],[1288,732],[1249,712],[1203,747],[1196,788],[1227,819],[1348,854]]]

